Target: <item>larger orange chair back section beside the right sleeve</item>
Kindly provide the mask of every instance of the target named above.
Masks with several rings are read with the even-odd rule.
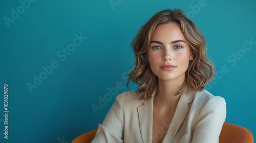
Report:
[[[253,135],[250,130],[244,127],[225,122],[219,137],[219,143],[224,142],[253,143]]]

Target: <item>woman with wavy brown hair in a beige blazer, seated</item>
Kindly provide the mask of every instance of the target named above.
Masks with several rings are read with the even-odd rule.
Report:
[[[218,142],[226,103],[204,90],[215,68],[180,10],[156,13],[133,40],[136,91],[119,94],[92,142]]]

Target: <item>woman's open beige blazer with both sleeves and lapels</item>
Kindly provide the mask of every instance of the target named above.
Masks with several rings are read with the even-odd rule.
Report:
[[[169,126],[163,123],[154,136],[153,100],[138,100],[129,91],[119,94],[92,142],[149,143],[159,139],[163,131],[167,133],[162,142],[219,142],[226,118],[226,102],[222,97],[212,96],[206,90],[183,93]]]

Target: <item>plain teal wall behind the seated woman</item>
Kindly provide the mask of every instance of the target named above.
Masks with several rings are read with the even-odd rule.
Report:
[[[216,70],[220,73],[222,66],[228,68],[206,87],[225,98],[226,122],[246,127],[256,135],[256,44],[244,53],[242,50],[245,39],[256,41],[255,1],[111,2],[117,5],[112,8],[110,1],[30,2],[9,27],[4,17],[11,18],[11,9],[17,11],[22,4],[0,2],[0,142],[68,143],[97,129],[115,96],[101,102],[105,105],[96,114],[92,105],[99,106],[100,97],[111,93],[108,88],[114,91],[119,82],[124,85],[117,89],[118,94],[127,90],[124,76],[133,63],[132,38],[148,18],[167,8],[190,14],[207,38],[208,56]],[[193,11],[199,4],[203,7]],[[58,57],[57,53],[80,33],[87,39],[65,60]],[[240,57],[233,58],[232,53],[238,52]],[[39,76],[44,71],[42,66],[54,60],[58,67],[30,92],[27,83],[33,84],[34,75]],[[6,83],[8,139],[4,139],[2,115]],[[136,85],[131,88],[136,89]]]

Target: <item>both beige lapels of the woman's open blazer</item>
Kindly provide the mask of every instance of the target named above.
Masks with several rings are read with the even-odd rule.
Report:
[[[155,94],[153,94],[153,97],[154,95]],[[172,121],[170,122],[168,131],[163,139],[163,142],[173,141],[177,130],[186,118],[186,115],[189,111],[188,104],[193,101],[194,96],[195,94],[187,94],[185,91],[181,94],[176,111],[174,113]],[[141,137],[143,142],[152,142],[154,98],[148,99],[146,101],[140,101],[144,103],[138,108]]]

